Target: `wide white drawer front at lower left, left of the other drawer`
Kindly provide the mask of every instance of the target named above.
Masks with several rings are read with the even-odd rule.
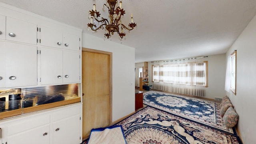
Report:
[[[22,120],[15,120],[13,122],[8,123],[8,136],[17,134],[19,132],[24,132],[26,130],[30,130],[32,128],[36,128],[39,126],[43,126],[45,124],[50,123],[50,115],[42,115],[24,118]]]

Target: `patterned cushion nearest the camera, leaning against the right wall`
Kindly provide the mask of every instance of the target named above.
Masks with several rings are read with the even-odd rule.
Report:
[[[237,121],[238,114],[236,113],[234,108],[230,106],[223,116],[223,124],[227,128],[232,128],[236,125]]]

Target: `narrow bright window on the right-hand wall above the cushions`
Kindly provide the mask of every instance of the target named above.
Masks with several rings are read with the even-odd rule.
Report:
[[[236,50],[230,56],[231,91],[236,95]]]

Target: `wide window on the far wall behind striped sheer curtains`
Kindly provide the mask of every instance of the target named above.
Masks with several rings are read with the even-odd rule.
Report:
[[[152,80],[153,82],[207,87],[207,65],[207,61],[154,65],[152,68]]]

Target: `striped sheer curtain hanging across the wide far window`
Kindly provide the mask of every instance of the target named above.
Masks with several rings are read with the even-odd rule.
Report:
[[[154,89],[178,94],[205,96],[204,61],[154,62]]]

